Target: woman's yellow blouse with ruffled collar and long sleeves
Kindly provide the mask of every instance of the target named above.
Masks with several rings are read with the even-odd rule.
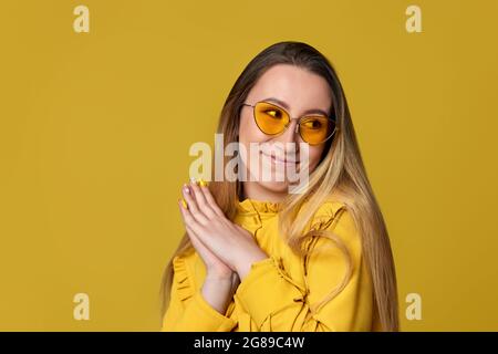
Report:
[[[325,332],[380,331],[373,304],[373,287],[362,257],[361,240],[350,212],[339,201],[326,201],[308,229],[326,229],[349,249],[353,272],[339,295],[315,313],[310,305],[329,294],[343,279],[346,260],[326,238],[309,239],[312,252],[307,264],[278,232],[278,204],[245,199],[235,222],[250,231],[269,256],[252,263],[225,314],[203,298],[206,275],[194,250],[174,258],[169,306],[162,331],[207,332]],[[307,275],[304,269],[308,268]],[[314,308],[312,308],[314,309]]]

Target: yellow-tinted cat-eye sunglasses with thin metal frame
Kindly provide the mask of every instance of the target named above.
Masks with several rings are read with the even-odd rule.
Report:
[[[267,135],[283,133],[289,127],[291,119],[299,119],[299,124],[295,125],[295,133],[299,129],[301,138],[310,145],[326,142],[336,131],[335,121],[326,115],[312,114],[291,118],[284,108],[266,101],[257,102],[253,105],[242,103],[242,105],[253,108],[256,125]]]

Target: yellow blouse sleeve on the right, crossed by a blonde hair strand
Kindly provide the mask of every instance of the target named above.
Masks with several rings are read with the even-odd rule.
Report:
[[[323,218],[322,218],[323,220]],[[352,275],[345,288],[317,312],[310,304],[329,294],[343,279],[346,259],[323,237],[312,242],[320,248],[308,262],[308,287],[303,291],[286,273],[276,257],[252,263],[236,296],[260,331],[371,331],[373,290],[363,262],[360,236],[350,212],[331,212],[320,229],[338,235],[350,251]]]

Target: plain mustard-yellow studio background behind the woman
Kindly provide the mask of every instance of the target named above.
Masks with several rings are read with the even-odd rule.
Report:
[[[73,9],[90,9],[90,33]],[[422,33],[405,9],[422,8]],[[304,41],[349,98],[403,331],[498,330],[498,2],[2,1],[0,330],[156,331],[194,142],[263,48]],[[73,296],[90,295],[90,321]],[[422,320],[405,296],[422,295]]]

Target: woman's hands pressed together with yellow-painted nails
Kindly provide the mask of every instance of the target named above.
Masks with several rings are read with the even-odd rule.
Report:
[[[204,180],[185,184],[181,195],[183,221],[207,277],[230,279],[237,273],[242,281],[253,262],[268,258],[249,231],[227,219]]]

